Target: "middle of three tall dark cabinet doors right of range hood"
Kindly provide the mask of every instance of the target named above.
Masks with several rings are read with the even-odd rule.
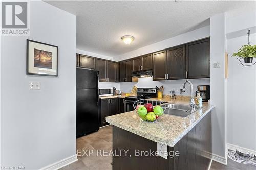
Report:
[[[168,79],[185,79],[185,45],[167,50],[167,77]]]

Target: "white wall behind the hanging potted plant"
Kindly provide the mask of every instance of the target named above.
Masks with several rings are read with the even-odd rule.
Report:
[[[227,13],[226,25],[227,34],[233,35],[227,40],[227,142],[256,151],[256,65],[243,67],[237,57],[231,57],[248,43],[246,33],[248,28],[256,27],[256,11],[236,11],[232,16]],[[252,33],[253,29],[250,43],[255,45],[256,34]],[[253,60],[255,62],[256,58]]]

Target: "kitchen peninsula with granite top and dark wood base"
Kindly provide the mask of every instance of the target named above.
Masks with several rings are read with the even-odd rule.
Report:
[[[180,99],[162,101],[188,104]],[[113,150],[129,150],[127,155],[113,156],[113,170],[207,169],[211,163],[212,108],[207,102],[188,117],[163,114],[156,123],[142,122],[136,111],[106,117],[106,122],[113,125]],[[135,153],[155,153],[159,151],[158,143],[167,148],[167,159]],[[176,151],[179,155],[170,155]]]

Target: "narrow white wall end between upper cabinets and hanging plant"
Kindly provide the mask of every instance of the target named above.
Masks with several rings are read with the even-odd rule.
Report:
[[[225,157],[225,14],[210,17],[210,85],[212,110],[212,153]],[[216,62],[221,68],[213,68]]]

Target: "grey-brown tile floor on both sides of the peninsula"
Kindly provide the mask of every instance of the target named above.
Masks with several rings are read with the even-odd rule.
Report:
[[[112,155],[109,151],[112,149],[112,126],[100,128],[98,132],[80,137],[76,140],[78,150],[78,161],[61,168],[61,170],[111,170]],[[89,156],[89,149],[93,153]],[[97,156],[97,150],[102,151],[102,156]],[[103,150],[106,150],[103,156]],[[98,154],[100,155],[100,154]],[[234,162],[228,158],[227,166],[212,161],[210,170],[256,170],[256,166],[246,165]]]

